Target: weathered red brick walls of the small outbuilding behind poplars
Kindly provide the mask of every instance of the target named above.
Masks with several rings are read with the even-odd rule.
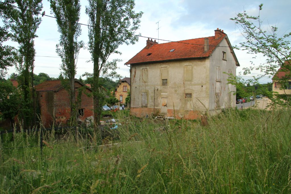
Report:
[[[81,85],[79,83],[75,83],[75,87],[79,88]],[[77,90],[77,89],[76,89]],[[71,107],[70,107],[70,97],[68,92],[62,88],[57,92],[49,91],[53,95],[49,95],[46,97],[42,95],[40,97],[40,110],[42,115],[42,123],[47,128],[52,126],[53,118],[55,118],[55,126],[59,124],[65,125],[67,121],[70,119],[71,115]],[[38,92],[40,95],[42,93],[49,92]],[[91,93],[89,89],[86,88],[87,93]],[[78,96],[78,92],[76,92],[76,99]],[[78,109],[84,109],[84,115],[79,116],[81,120],[85,120],[87,117],[93,115],[93,97],[88,97],[84,92],[81,95],[81,104]]]

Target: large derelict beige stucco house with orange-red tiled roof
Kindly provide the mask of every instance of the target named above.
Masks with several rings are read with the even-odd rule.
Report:
[[[130,111],[138,117],[197,119],[235,106],[235,86],[223,72],[236,75],[239,62],[223,30],[163,44],[148,39],[125,65],[130,65]]]

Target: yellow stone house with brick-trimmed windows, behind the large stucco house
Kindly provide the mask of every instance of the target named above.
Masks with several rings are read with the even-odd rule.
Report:
[[[125,104],[125,98],[127,97],[128,91],[130,91],[130,77],[125,77],[119,80],[119,83],[115,88],[115,97],[120,104]]]

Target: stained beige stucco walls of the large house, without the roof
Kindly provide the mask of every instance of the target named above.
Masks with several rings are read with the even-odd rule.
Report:
[[[138,117],[161,114],[197,119],[205,112],[234,107],[231,92],[236,89],[227,84],[228,75],[223,72],[235,75],[239,64],[227,36],[218,45],[221,47],[213,49],[208,57],[133,64],[129,61],[131,113]]]

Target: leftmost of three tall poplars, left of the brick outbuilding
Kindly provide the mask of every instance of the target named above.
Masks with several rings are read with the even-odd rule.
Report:
[[[12,39],[19,44],[17,70],[23,92],[23,103],[19,113],[26,126],[31,125],[31,116],[36,124],[36,104],[33,91],[33,70],[35,60],[34,38],[37,37],[41,18],[38,13],[42,10],[42,0],[15,0],[19,8],[14,9],[13,23],[10,25]],[[31,108],[33,107],[33,108]]]

